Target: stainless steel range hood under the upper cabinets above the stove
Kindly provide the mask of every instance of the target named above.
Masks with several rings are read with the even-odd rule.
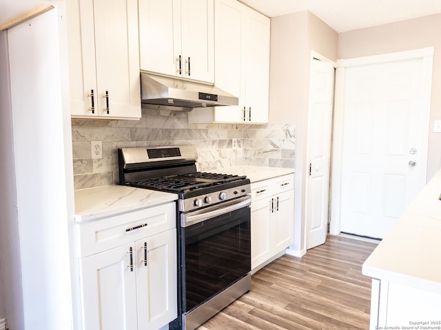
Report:
[[[238,105],[239,101],[213,85],[141,72],[141,102],[190,111],[199,107]]]

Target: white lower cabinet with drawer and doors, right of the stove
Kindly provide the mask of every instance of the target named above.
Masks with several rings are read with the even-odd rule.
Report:
[[[252,184],[252,270],[269,263],[294,239],[294,175]]]

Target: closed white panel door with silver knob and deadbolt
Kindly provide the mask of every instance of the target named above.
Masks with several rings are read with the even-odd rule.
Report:
[[[341,232],[383,238],[425,184],[423,66],[413,58],[345,69]]]

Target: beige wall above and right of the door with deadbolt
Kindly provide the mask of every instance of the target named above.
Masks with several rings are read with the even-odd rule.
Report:
[[[433,133],[433,121],[441,120],[441,14],[338,34],[338,58],[354,58],[435,47],[431,96],[427,179],[441,166],[441,133]]]

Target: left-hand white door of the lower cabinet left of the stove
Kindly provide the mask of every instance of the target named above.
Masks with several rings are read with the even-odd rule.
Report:
[[[81,259],[83,328],[136,329],[136,275],[130,269],[134,245],[126,244]]]

